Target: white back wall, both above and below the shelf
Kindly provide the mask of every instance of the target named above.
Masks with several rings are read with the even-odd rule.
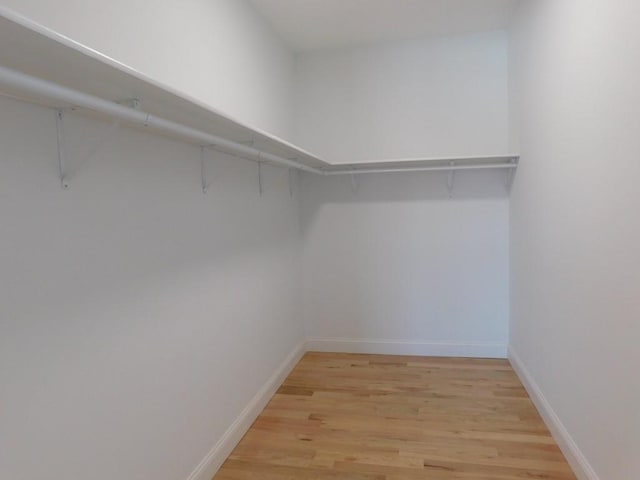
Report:
[[[332,160],[502,153],[507,37],[296,58],[296,140]],[[304,316],[319,349],[504,356],[504,173],[304,176]]]

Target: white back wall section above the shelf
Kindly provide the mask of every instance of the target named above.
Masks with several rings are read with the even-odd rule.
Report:
[[[508,153],[504,32],[296,56],[294,140],[336,162]]]

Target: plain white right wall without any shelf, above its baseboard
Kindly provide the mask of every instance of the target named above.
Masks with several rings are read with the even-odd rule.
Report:
[[[513,353],[581,479],[640,477],[640,4],[539,0],[513,29]]]

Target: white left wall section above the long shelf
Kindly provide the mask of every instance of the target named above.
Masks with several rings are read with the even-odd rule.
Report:
[[[293,57],[245,0],[0,3],[243,123],[293,134]]]

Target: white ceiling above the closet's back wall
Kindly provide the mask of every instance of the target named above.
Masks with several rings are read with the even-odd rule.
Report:
[[[505,28],[519,0],[250,0],[297,52]]]

